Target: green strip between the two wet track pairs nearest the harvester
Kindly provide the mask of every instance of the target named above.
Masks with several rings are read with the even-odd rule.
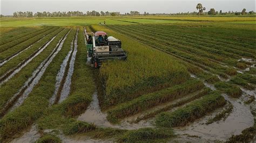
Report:
[[[67,29],[68,30],[68,29]],[[52,96],[55,88],[56,76],[62,61],[70,49],[70,42],[75,35],[75,30],[71,31],[66,38],[62,50],[56,55],[49,67],[46,69],[41,80],[33,88],[29,97],[16,110],[9,112],[0,120],[0,132],[2,140],[10,138],[12,135],[30,126],[38,119],[43,111],[48,107],[48,99]],[[49,54],[48,54],[49,55]],[[12,120],[16,118],[16,120]]]

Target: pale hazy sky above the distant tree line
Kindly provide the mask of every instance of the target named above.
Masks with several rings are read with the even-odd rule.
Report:
[[[1,14],[12,15],[15,11],[120,11],[121,13],[137,10],[140,13],[144,11],[149,13],[177,13],[196,11],[197,3],[203,4],[206,11],[211,8],[223,11],[255,11],[254,0],[0,0]]]

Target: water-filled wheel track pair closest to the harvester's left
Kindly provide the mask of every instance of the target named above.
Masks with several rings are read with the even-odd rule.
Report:
[[[56,76],[55,92],[50,98],[49,105],[63,102],[70,94],[71,79],[73,75],[76,53],[77,53],[78,28],[75,38],[70,45],[70,51],[63,60],[60,70]]]

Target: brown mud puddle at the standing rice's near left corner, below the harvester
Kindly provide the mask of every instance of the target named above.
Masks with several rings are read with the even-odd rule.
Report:
[[[92,102],[87,110],[80,115],[77,120],[86,121],[87,123],[93,123],[97,126],[102,127],[112,127],[126,130],[134,130],[143,127],[154,127],[151,121],[140,121],[136,124],[131,124],[128,121],[124,120],[118,125],[113,125],[107,120],[106,113],[103,113],[99,107],[98,94],[95,92],[92,96]]]

